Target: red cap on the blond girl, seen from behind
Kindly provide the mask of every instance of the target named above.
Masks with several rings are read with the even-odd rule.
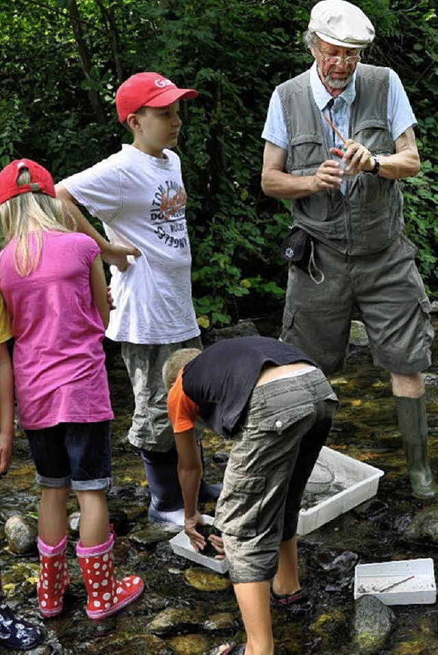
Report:
[[[29,184],[18,185],[17,179],[23,168],[29,170],[31,181]],[[43,166],[31,159],[15,159],[0,171],[0,204],[29,191],[56,197],[52,176]]]

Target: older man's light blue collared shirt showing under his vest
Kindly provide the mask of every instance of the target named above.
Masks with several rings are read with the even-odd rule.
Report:
[[[355,70],[350,84],[335,99],[331,109],[332,123],[346,139],[348,138],[348,126],[350,125],[351,105],[356,97],[356,74],[357,71]],[[330,118],[327,103],[331,100],[331,95],[320,80],[316,62],[313,62],[313,66],[310,69],[310,85],[313,99],[321,114],[326,114]],[[322,120],[322,123],[324,129],[326,129],[327,142],[330,146],[335,146],[336,148],[342,147],[342,141],[336,134],[333,136],[333,130],[330,125],[325,120]],[[391,130],[391,137],[394,141],[409,127],[417,125],[400,77],[391,69],[389,70],[388,124]],[[289,142],[287,139],[286,123],[279,94],[276,89],[270,99],[268,116],[266,116],[266,123],[261,138],[270,141],[276,146],[279,146],[279,148],[283,148],[283,150],[288,149]]]

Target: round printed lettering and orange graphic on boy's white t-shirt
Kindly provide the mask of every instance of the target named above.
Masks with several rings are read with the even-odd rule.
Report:
[[[160,184],[151,204],[151,220],[155,223],[155,234],[171,248],[187,248],[185,232],[185,203],[187,194],[183,186],[166,180]]]

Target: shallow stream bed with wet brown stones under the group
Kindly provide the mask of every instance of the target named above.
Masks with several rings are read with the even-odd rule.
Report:
[[[437,325],[435,326],[437,327]],[[266,326],[259,322],[266,333]],[[430,426],[430,457],[438,472],[438,340],[433,368],[426,377]],[[114,488],[109,494],[118,539],[116,565],[120,573],[136,572],[145,580],[142,598],[104,621],[88,621],[83,611],[85,592],[74,558],[75,532],[68,552],[72,585],[61,617],[42,622],[36,609],[38,558],[14,556],[3,539],[5,519],[12,513],[36,515],[38,489],[27,442],[17,433],[14,463],[0,480],[0,567],[9,602],[47,630],[47,641],[34,652],[74,655],[203,655],[231,638],[244,639],[228,577],[207,575],[172,554],[170,535],[151,530],[147,521],[149,491],[140,458],[125,435],[130,424],[132,397],[117,348],[107,357],[116,420],[113,424]],[[435,377],[436,376],[436,377]],[[338,517],[300,538],[302,585],[311,594],[311,608],[294,616],[274,611],[278,655],[356,655],[350,640],[353,608],[352,580],[356,563],[432,557],[431,546],[402,540],[413,514],[428,504],[413,500],[396,428],[389,377],[373,367],[368,350],[353,350],[346,371],[333,377],[342,401],[329,445],[385,471],[378,495],[368,504]],[[207,478],[219,481],[231,444],[206,433]],[[77,511],[72,496],[69,512]],[[205,511],[214,512],[214,506]],[[176,611],[175,611],[176,610]],[[165,612],[162,615],[162,612]],[[167,613],[166,613],[167,611]],[[435,605],[397,606],[396,628],[382,655],[438,653],[438,608]],[[159,619],[163,620],[160,621]],[[1,647],[0,647],[1,650]]]

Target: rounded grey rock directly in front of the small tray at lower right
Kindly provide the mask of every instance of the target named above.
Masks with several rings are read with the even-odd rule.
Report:
[[[396,615],[375,596],[361,596],[355,602],[352,637],[361,655],[376,655],[394,628]]]

